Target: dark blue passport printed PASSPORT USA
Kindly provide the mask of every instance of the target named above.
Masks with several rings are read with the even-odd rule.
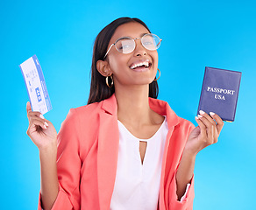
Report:
[[[241,72],[205,67],[199,110],[216,113],[224,121],[235,120]]]

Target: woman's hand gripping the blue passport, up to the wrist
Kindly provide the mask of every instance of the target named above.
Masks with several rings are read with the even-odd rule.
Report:
[[[198,126],[191,131],[185,151],[191,155],[196,155],[210,144],[217,143],[217,138],[224,126],[223,120],[217,115],[210,112],[210,116],[203,111],[196,117]]]

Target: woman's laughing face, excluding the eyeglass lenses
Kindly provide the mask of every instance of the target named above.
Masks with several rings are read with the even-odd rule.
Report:
[[[128,23],[117,27],[111,44],[115,43],[117,38],[130,37],[141,38],[145,33],[149,33],[143,25],[139,23]],[[147,50],[140,39],[135,40],[136,46],[133,52],[124,54],[118,52],[115,46],[112,46],[108,53],[108,62],[110,71],[113,73],[115,88],[119,85],[148,85],[157,73],[158,52],[156,50]],[[149,66],[135,67],[136,64],[149,62]]]

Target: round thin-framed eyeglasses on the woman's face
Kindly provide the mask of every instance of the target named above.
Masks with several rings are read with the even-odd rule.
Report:
[[[146,33],[141,38],[130,38],[130,37],[122,37],[118,38],[117,41],[110,45],[109,50],[106,52],[103,59],[106,58],[107,54],[110,52],[110,49],[113,45],[115,45],[118,52],[122,52],[124,54],[128,54],[134,51],[136,43],[135,40],[140,39],[141,44],[150,51],[154,51],[160,47],[161,38],[153,33]]]

